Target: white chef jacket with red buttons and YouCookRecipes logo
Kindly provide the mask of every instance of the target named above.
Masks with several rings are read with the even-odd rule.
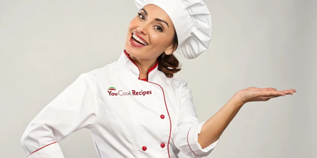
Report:
[[[64,158],[58,142],[89,129],[99,158],[191,158],[207,156],[220,138],[202,149],[191,90],[167,78],[156,63],[148,78],[124,51],[119,60],[81,74],[31,121],[21,143],[29,158]]]

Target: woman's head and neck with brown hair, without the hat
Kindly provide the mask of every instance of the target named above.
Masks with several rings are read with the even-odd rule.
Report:
[[[152,67],[156,60],[159,61],[158,69],[167,77],[180,71],[179,62],[172,54],[177,46],[173,22],[160,7],[148,4],[130,22],[125,50],[141,69],[140,79],[147,77],[146,68],[150,64]],[[139,60],[146,65],[139,64]]]

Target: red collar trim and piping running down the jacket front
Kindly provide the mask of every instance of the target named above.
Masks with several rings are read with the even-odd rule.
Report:
[[[135,64],[135,62],[132,60],[132,58],[130,57],[130,55],[126,52],[126,50],[124,50],[124,53],[126,54],[126,57],[128,57],[130,59],[130,61],[139,69],[138,65]],[[159,61],[157,60],[156,61],[156,64],[149,69],[148,73],[150,73],[152,70],[154,70],[159,64]],[[140,72],[140,69],[139,69],[139,73]],[[140,79],[140,75],[139,75],[139,80],[142,80],[142,81],[145,81],[145,82],[149,82],[147,81],[147,79]],[[153,82],[149,82],[149,83],[153,83]],[[167,142],[167,153],[168,153],[168,157],[171,158],[170,156],[170,149],[169,149],[169,144],[170,144],[170,139],[171,139],[171,131],[172,131],[172,122],[171,122],[171,117],[170,117],[170,113],[168,112],[168,108],[167,108],[167,104],[166,104],[166,100],[165,100],[165,93],[164,93],[164,89],[157,83],[153,83],[155,85],[158,85],[161,89],[162,89],[162,92],[163,92],[163,96],[164,96],[164,102],[165,102],[165,107],[166,107],[166,111],[167,111],[167,114],[168,114],[168,118],[170,119],[170,136],[168,138],[168,142]]]

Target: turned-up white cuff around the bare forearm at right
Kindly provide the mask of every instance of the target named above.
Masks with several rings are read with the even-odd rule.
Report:
[[[199,123],[197,125],[194,125],[191,127],[191,129],[188,131],[187,135],[187,142],[188,145],[191,149],[191,151],[196,155],[196,156],[207,156],[211,153],[211,151],[215,148],[215,146],[219,143],[220,138],[222,135],[219,137],[219,139],[207,146],[206,148],[202,149],[200,144],[198,143],[198,134],[200,134],[201,128],[204,125],[206,121]]]

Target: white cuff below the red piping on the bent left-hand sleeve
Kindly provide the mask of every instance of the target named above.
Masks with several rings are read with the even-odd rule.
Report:
[[[27,158],[65,158],[58,143],[51,143],[32,152]]]

